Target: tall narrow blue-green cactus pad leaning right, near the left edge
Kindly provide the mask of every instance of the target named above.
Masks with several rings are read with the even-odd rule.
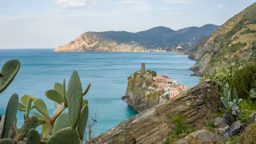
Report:
[[[1,138],[6,138],[11,129],[13,121],[15,120],[19,105],[19,96],[14,93],[8,101],[7,108],[5,111],[5,121],[3,124],[3,132]]]

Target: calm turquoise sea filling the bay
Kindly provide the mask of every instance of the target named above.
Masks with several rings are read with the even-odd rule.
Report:
[[[51,115],[55,107],[53,102],[46,98],[45,91],[53,89],[55,82],[62,83],[63,78],[68,82],[72,71],[76,69],[83,89],[91,83],[86,97],[90,114],[97,112],[98,115],[96,135],[114,127],[120,120],[137,114],[120,98],[125,95],[127,77],[141,69],[141,62],[146,63],[146,69],[169,75],[171,79],[189,87],[199,81],[199,77],[189,76],[193,72],[187,70],[195,61],[189,60],[186,55],[170,53],[54,53],[53,49],[0,49],[0,67],[8,59],[19,59],[21,69],[13,83],[0,93],[1,115],[4,115],[13,93],[18,93],[19,97],[24,94],[40,97],[45,101]],[[23,112],[18,111],[17,118],[18,127],[21,127],[24,122]]]

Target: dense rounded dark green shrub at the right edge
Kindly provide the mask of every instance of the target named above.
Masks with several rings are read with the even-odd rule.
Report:
[[[251,89],[256,88],[256,63],[247,64],[242,69],[237,70],[231,86],[236,88],[240,98],[248,98]]]

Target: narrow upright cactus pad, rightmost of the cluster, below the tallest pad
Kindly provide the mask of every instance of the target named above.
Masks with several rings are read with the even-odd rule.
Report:
[[[78,124],[77,124],[77,131],[80,135],[81,140],[83,139],[83,135],[85,133],[85,128],[86,128],[87,120],[88,120],[88,114],[89,114],[89,109],[88,109],[88,105],[86,104],[81,111],[81,115],[79,117]]]

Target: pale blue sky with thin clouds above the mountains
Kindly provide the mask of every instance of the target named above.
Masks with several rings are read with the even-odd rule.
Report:
[[[0,48],[56,48],[84,32],[224,24],[256,0],[0,0]]]

